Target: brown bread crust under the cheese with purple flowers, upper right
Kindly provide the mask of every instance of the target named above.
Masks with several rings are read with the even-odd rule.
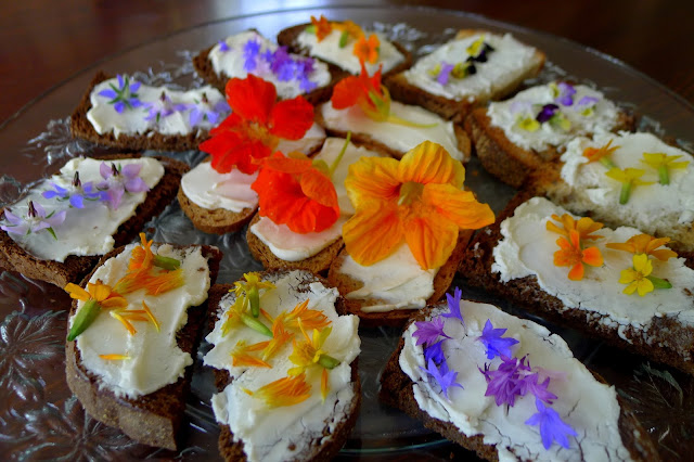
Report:
[[[637,119],[620,112],[613,132],[633,131]],[[558,162],[561,152],[550,146],[544,151],[526,150],[512,143],[503,129],[491,125],[486,107],[474,110],[465,118],[465,130],[472,138],[477,157],[483,167],[514,188],[520,188],[531,174],[541,171],[547,165]]]

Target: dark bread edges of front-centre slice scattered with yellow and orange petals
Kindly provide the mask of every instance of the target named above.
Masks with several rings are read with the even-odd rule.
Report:
[[[268,271],[265,274],[281,274],[286,272],[284,270],[280,271]],[[261,273],[264,274],[264,273]],[[265,278],[261,278],[265,279]],[[327,281],[323,278],[311,274],[306,279],[308,282],[319,281],[324,286],[330,286]],[[230,291],[233,291],[234,286],[232,284],[217,284],[213,286],[209,291],[208,304],[209,304],[209,319],[208,319],[208,330],[211,332],[215,329],[215,323],[222,316],[224,307],[221,306],[221,298],[227,295]],[[344,299],[342,297],[337,298],[335,303],[335,310],[338,315],[348,315],[343,305]],[[361,406],[361,381],[359,378],[358,373],[358,361],[359,358],[355,359],[351,363],[351,382],[354,384],[355,390],[355,399],[351,402],[349,411],[347,412],[347,419],[340,421],[335,426],[335,429],[331,433],[329,432],[327,426],[323,429],[323,436],[330,436],[330,441],[325,445],[319,445],[319,441],[312,442],[312,451],[306,460],[311,461],[327,461],[333,459],[339,452],[339,449],[345,445],[345,441],[349,437],[355,424],[357,423],[357,418],[359,414],[359,408]],[[229,371],[213,369],[215,374],[215,386],[217,387],[217,392],[221,393],[231,382],[232,378],[229,375]],[[244,452],[243,441],[234,440],[234,435],[231,432],[229,425],[220,425],[219,440],[218,440],[219,453],[226,461],[245,461],[246,453]]]

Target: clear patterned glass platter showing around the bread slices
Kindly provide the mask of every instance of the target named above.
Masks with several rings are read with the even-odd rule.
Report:
[[[31,181],[50,175],[78,154],[104,152],[103,147],[69,137],[67,116],[77,105],[98,68],[107,73],[138,73],[143,82],[201,85],[190,63],[197,50],[227,35],[254,27],[267,37],[287,26],[305,23],[311,14],[332,20],[350,18],[362,26],[385,31],[415,52],[448,40],[461,28],[512,31],[518,39],[543,50],[545,69],[537,81],[556,77],[601,89],[622,107],[642,115],[641,129],[672,137],[692,151],[686,137],[694,133],[694,107],[654,80],[619,61],[554,36],[493,22],[459,12],[422,8],[327,8],[293,10],[220,20],[187,29],[103,60],[83,69],[23,108],[0,127],[0,205],[16,200]],[[532,84],[532,82],[530,82]],[[147,153],[152,154],[152,153]],[[191,164],[198,152],[167,153]],[[466,184],[481,202],[499,211],[514,190],[491,179],[473,159]],[[249,255],[245,231],[216,236],[195,231],[177,203],[146,226],[156,241],[179,244],[205,243],[226,254],[218,282],[236,280],[248,270],[261,269]],[[525,317],[524,311],[494,299],[493,295],[464,287],[470,298],[490,300],[504,310]],[[18,273],[0,273],[0,454],[16,460],[80,459],[183,459],[218,460],[218,429],[209,407],[214,392],[211,373],[195,365],[193,393],[179,452],[138,445],[118,431],[85,414],[64,378],[66,294]],[[532,318],[532,317],[531,317]],[[541,319],[535,320],[547,325]],[[580,333],[549,325],[562,335],[577,358],[614,384],[635,410],[644,427],[658,444],[666,460],[690,459],[694,453],[694,382],[682,373],[616,350]],[[338,459],[420,460],[475,459],[457,445],[423,428],[402,413],[378,403],[378,375],[395,348],[394,329],[360,329],[359,359],[363,388],[361,413]],[[209,348],[201,346],[198,359]]]

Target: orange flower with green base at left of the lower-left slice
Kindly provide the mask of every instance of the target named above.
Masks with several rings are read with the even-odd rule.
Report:
[[[72,282],[65,286],[70,298],[85,301],[85,305],[75,316],[73,325],[67,334],[67,341],[74,341],[79,334],[85,332],[89,325],[97,319],[101,309],[125,308],[128,301],[113,291],[110,285],[102,284],[101,281],[88,283],[87,291]]]

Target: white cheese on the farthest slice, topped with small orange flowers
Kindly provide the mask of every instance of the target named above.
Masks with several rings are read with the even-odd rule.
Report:
[[[364,34],[367,38],[369,38],[372,33],[364,31]],[[319,42],[316,34],[303,30],[297,36],[296,41],[301,48],[307,49],[311,56],[320,57],[323,61],[335,64],[351,74],[359,74],[361,72],[361,65],[359,64],[359,59],[354,54],[356,42],[354,39],[350,39],[347,46],[340,48],[340,36],[342,31],[333,28],[333,30]],[[365,63],[369,75],[378,70],[381,64],[383,64],[383,74],[385,74],[404,61],[402,53],[386,40],[383,35],[376,33],[376,36],[381,42],[378,47],[378,60],[374,64]]]

